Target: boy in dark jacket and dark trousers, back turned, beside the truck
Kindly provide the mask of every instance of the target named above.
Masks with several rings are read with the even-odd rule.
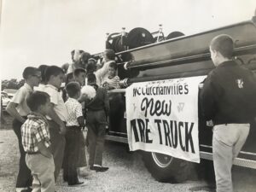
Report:
[[[88,84],[96,89],[96,96],[85,100],[86,124],[88,125],[89,166],[90,170],[106,172],[108,167],[102,166],[102,153],[105,140],[109,102],[107,91],[96,84],[96,76],[88,74]]]

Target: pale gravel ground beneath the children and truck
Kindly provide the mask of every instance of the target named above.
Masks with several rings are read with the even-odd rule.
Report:
[[[0,192],[15,191],[15,179],[18,171],[19,151],[14,131],[11,130],[11,119],[3,114],[5,122],[0,128]],[[127,146],[118,143],[106,143],[103,156],[108,172],[89,172],[88,177],[80,177],[84,181],[81,187],[68,187],[62,182],[60,175],[56,183],[58,192],[108,191],[108,192],[206,192],[213,191],[203,180],[191,179],[184,183],[159,183],[143,166],[140,154],[129,152]],[[254,174],[254,173],[253,173]],[[255,175],[254,175],[255,176]],[[244,176],[237,175],[236,180]],[[253,183],[255,177],[249,177]],[[236,182],[238,183],[238,182]],[[245,186],[244,186],[245,187]],[[254,191],[253,184],[237,191]]]

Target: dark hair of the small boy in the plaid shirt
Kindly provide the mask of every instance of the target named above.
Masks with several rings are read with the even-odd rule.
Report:
[[[34,91],[27,96],[26,104],[33,112],[37,111],[41,105],[44,105],[49,100],[49,95],[42,91]]]

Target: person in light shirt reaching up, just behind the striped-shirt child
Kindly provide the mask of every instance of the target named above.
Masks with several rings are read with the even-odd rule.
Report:
[[[96,83],[99,86],[102,86],[102,79],[108,78],[108,67],[111,62],[114,62],[114,51],[113,49],[106,49],[103,53],[103,66],[99,68],[95,75],[96,75]]]

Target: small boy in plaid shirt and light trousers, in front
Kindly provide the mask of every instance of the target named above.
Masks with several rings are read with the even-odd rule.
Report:
[[[49,125],[44,115],[49,113],[49,95],[33,92],[26,99],[32,110],[21,126],[22,145],[26,152],[26,165],[32,172],[32,191],[55,191],[55,165],[49,146]]]

